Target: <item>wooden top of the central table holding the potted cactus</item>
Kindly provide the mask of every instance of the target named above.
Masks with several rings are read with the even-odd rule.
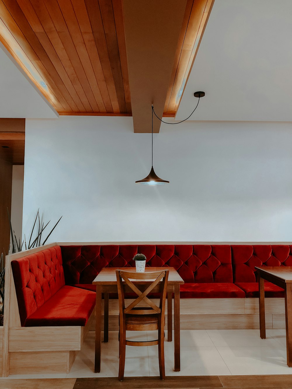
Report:
[[[93,285],[116,285],[116,270],[125,270],[125,272],[135,272],[136,268],[129,267],[129,268],[103,268],[100,273],[95,277],[92,284]],[[181,278],[181,276],[178,274],[178,272],[172,268],[172,267],[163,267],[163,268],[156,268],[156,267],[146,267],[145,273],[150,272],[159,272],[163,270],[169,270],[168,275],[168,284],[184,284],[184,280]],[[153,280],[131,280],[133,284],[144,284],[146,282],[152,282]]]

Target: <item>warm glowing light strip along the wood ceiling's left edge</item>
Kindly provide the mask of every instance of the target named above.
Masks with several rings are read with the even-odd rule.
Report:
[[[12,35],[9,28],[5,25],[4,21],[1,18],[0,18],[0,42],[9,51],[9,53],[12,55],[14,60],[28,75],[30,80],[40,90],[40,92],[44,95],[44,97],[47,100],[49,100],[49,102],[52,105],[55,105],[56,98],[48,88],[47,83],[44,81],[39,71],[35,68],[32,61],[25,54],[22,47],[19,45],[19,43]]]

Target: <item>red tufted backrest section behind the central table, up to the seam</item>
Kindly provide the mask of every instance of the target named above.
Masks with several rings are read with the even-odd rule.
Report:
[[[135,267],[137,252],[146,266],[174,267],[185,282],[232,282],[230,245],[61,246],[68,285],[91,284],[104,267]]]

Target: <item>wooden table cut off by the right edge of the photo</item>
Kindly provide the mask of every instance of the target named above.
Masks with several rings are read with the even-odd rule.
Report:
[[[285,291],[287,365],[292,367],[292,267],[255,267],[259,279],[260,337],[266,338],[264,280],[280,286]]]

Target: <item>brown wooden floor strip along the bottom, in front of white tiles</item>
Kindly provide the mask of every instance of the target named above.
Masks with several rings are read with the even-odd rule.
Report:
[[[1,389],[292,389],[292,375],[225,375],[225,376],[175,376],[166,377],[117,377],[97,378],[0,378]]]

